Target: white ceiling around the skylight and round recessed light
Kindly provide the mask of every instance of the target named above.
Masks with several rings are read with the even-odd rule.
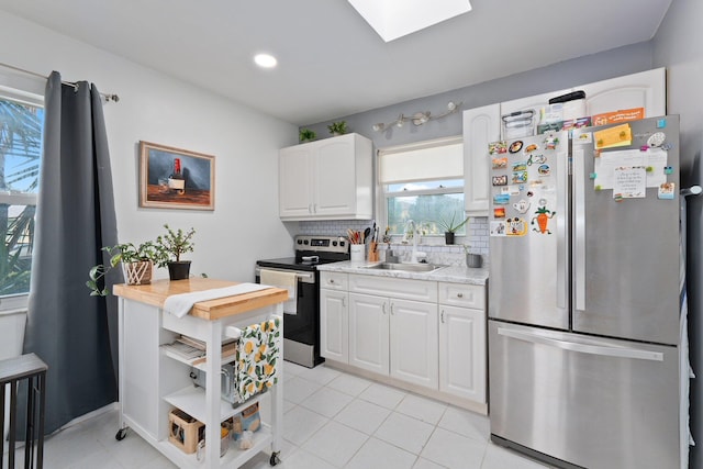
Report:
[[[471,0],[472,11],[389,43],[346,0],[0,0],[0,10],[304,125],[648,41],[670,3]],[[258,52],[278,67],[256,67]]]

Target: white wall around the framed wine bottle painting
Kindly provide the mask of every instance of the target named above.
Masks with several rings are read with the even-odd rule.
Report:
[[[278,217],[278,149],[298,142],[297,126],[4,12],[0,42],[1,63],[120,96],[104,105],[120,242],[154,238],[166,222],[193,226],[191,272],[236,281],[254,280],[256,259],[292,253]],[[140,141],[214,155],[214,212],[140,209]]]

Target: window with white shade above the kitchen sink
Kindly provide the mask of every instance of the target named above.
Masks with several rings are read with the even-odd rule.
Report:
[[[465,219],[461,137],[379,149],[378,177],[390,234],[403,234],[413,220],[426,235],[442,235],[451,220]]]

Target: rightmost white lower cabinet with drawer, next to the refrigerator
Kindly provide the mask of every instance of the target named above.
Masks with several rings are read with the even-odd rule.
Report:
[[[439,391],[487,402],[486,289],[439,282]]]

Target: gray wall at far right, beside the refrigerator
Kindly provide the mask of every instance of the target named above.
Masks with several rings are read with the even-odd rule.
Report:
[[[681,185],[703,185],[703,2],[673,0],[654,38],[656,67],[667,67],[668,112],[681,116]],[[688,200],[688,291],[691,366],[691,426],[699,446],[691,448],[690,467],[703,467],[703,261],[701,225],[703,197]]]

